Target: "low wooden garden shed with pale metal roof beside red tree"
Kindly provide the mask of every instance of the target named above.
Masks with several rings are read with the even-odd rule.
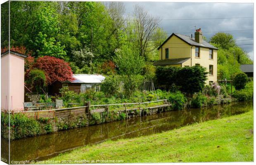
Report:
[[[73,81],[56,82],[52,87],[52,94],[57,94],[62,87],[68,87],[69,90],[76,93],[85,92],[88,89],[98,92],[105,77],[103,75],[74,74],[73,79]]]

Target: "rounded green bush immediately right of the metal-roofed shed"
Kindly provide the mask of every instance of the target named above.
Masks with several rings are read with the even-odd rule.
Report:
[[[108,97],[113,96],[119,90],[120,81],[119,75],[107,76],[100,86],[102,92],[104,92]]]

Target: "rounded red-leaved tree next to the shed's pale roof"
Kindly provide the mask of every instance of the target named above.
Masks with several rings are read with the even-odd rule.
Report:
[[[51,85],[56,81],[73,80],[72,70],[63,59],[50,56],[39,57],[33,68],[38,68],[45,72],[47,85]]]

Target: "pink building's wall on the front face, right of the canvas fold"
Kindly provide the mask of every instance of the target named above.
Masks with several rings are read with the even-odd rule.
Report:
[[[10,54],[10,106],[23,111],[24,102],[24,58]]]

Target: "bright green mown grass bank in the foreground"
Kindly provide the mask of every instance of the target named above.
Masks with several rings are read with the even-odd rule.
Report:
[[[195,123],[147,137],[105,141],[49,160],[123,160],[123,163],[253,161],[253,111]]]

